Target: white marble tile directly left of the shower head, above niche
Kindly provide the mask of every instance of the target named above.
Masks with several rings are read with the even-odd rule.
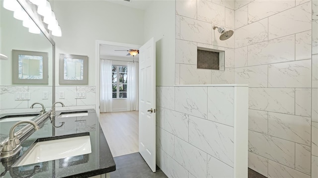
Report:
[[[212,44],[212,25],[207,22],[181,16],[180,39]]]

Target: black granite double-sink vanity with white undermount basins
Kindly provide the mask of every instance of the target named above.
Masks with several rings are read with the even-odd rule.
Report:
[[[61,144],[60,141],[73,138],[76,138],[73,139],[73,141],[76,141],[80,138],[74,136],[89,138],[91,147],[88,153],[79,153],[75,154],[77,156],[59,159],[59,153],[54,153],[59,148],[51,145],[42,150],[39,149],[40,151],[34,151],[38,153],[36,157],[45,157],[49,161],[31,160],[31,162],[37,163],[19,165],[26,155],[32,153],[30,150],[35,147],[35,142],[52,140],[53,138],[56,144],[63,145],[60,146],[61,148],[67,149],[70,146],[68,143],[71,142],[66,141]],[[21,143],[21,146],[20,153],[14,156],[13,160],[11,158],[8,160],[1,159],[1,178],[105,178],[109,176],[107,173],[116,170],[113,156],[93,109],[74,110],[72,112],[57,111],[52,123],[47,118],[43,127],[33,132]],[[76,153],[78,150],[72,148],[71,152]],[[27,159],[30,161],[30,158]]]

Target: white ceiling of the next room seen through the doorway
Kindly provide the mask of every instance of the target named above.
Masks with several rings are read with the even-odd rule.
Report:
[[[124,48],[118,46],[108,46],[108,45],[101,45],[99,48],[99,54],[103,59],[114,59],[114,60],[121,60],[121,59],[128,59],[132,60],[133,56],[127,56],[128,51],[131,48]],[[125,50],[125,51],[115,51],[115,50]],[[138,50],[138,49],[134,49]],[[120,59],[121,58],[121,59]],[[135,60],[138,61],[139,55],[134,57]]]

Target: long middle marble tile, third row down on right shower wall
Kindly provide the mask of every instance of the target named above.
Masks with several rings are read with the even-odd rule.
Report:
[[[248,65],[295,60],[295,35],[248,46]]]

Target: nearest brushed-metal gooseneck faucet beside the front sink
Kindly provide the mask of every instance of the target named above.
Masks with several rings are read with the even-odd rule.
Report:
[[[6,157],[10,157],[13,156],[15,153],[17,153],[17,151],[20,150],[21,146],[20,146],[20,140],[18,139],[18,135],[22,134],[22,132],[18,132],[17,134],[14,134],[14,130],[15,128],[20,124],[20,123],[30,123],[33,125],[34,130],[39,130],[40,127],[38,124],[36,124],[34,121],[32,120],[21,120],[16,122],[15,124],[12,125],[12,127],[10,128],[10,132],[9,132],[9,139],[6,140],[6,142],[4,142],[2,151],[1,151],[1,158],[6,158]]]

